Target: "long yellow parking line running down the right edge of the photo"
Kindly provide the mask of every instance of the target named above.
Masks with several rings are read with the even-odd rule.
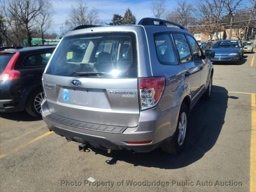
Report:
[[[250,146],[250,192],[256,192],[256,94],[252,94],[252,134]]]

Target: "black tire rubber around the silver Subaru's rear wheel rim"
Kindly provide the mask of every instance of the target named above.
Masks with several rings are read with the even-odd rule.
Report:
[[[179,113],[178,123],[177,123],[177,127],[176,127],[176,131],[174,133],[174,136],[172,137],[172,139],[170,141],[165,142],[161,146],[162,150],[166,153],[176,155],[176,154],[179,154],[184,148],[184,144],[186,143],[186,134],[185,134],[185,138],[184,138],[183,143],[181,145],[178,143],[179,123],[180,123],[181,114],[183,112],[186,113],[186,130],[185,130],[185,133],[187,133],[187,129],[188,129],[188,107],[186,106],[186,104],[182,103],[181,106],[180,106],[180,113]]]

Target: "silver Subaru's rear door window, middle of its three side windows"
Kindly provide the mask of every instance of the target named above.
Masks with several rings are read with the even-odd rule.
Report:
[[[192,54],[190,52],[190,48],[188,46],[188,42],[185,38],[184,34],[173,33],[174,42],[176,44],[176,48],[178,50],[178,54],[180,56],[180,62],[189,62],[192,60]]]

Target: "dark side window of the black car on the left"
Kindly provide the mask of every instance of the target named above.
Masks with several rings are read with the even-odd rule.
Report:
[[[52,52],[33,54],[26,57],[23,65],[26,67],[46,66],[51,56]]]

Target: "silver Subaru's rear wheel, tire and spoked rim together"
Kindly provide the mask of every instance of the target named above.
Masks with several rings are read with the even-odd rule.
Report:
[[[180,113],[178,124],[172,140],[162,145],[162,150],[166,153],[179,154],[184,148],[186,141],[186,131],[188,128],[188,108],[186,104],[182,103],[180,106]]]

